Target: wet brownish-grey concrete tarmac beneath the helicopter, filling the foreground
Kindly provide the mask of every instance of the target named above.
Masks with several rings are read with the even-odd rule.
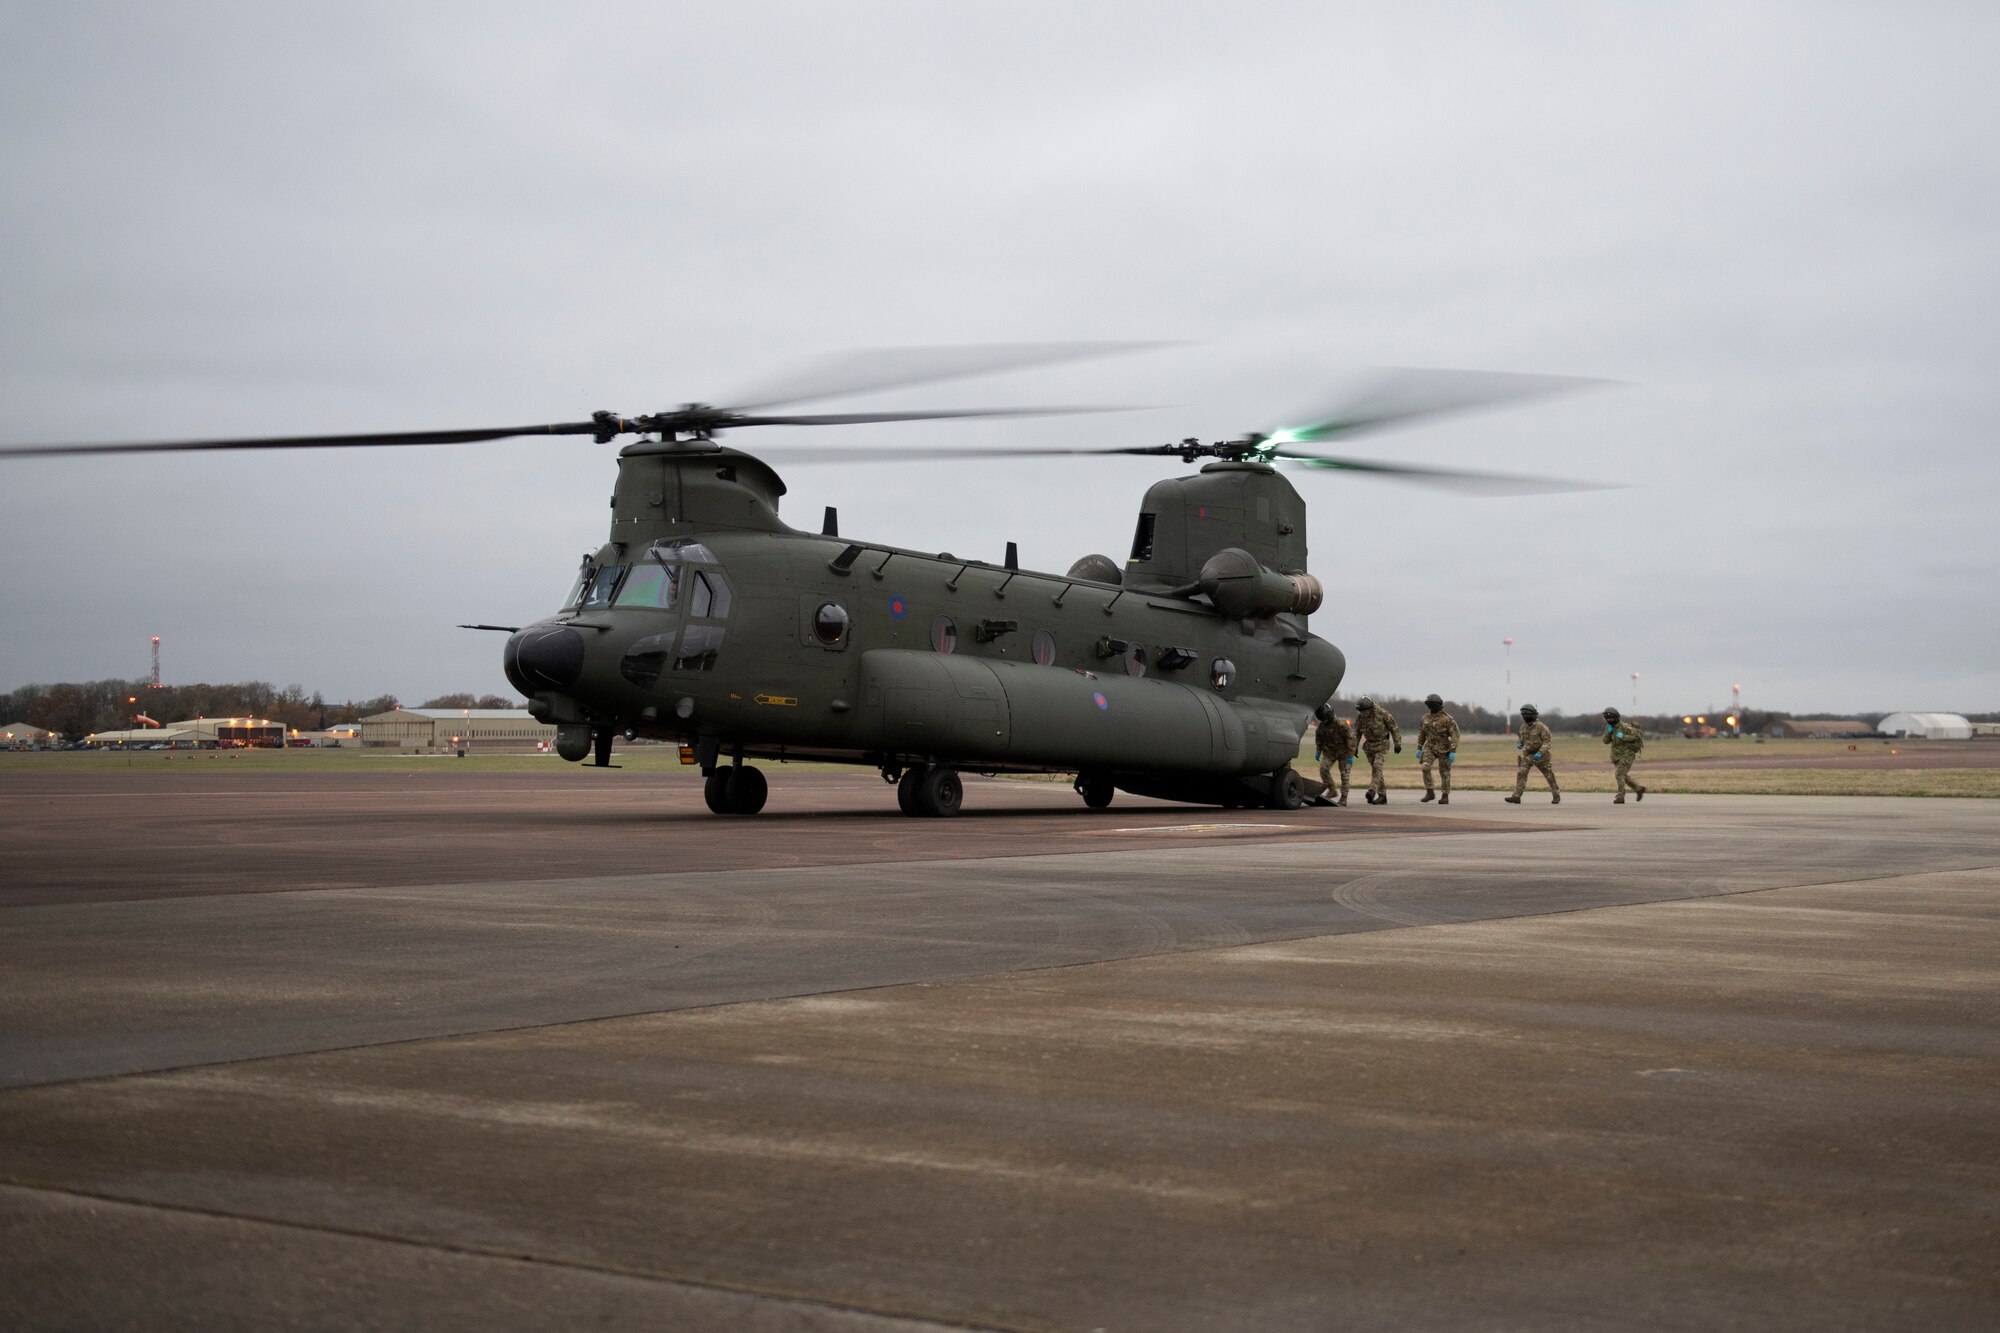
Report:
[[[2000,1323],[1994,803],[282,777],[0,785],[0,1325]]]

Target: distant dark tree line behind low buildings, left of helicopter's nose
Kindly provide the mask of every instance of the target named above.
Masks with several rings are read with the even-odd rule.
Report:
[[[332,703],[302,685],[276,689],[266,681],[236,685],[168,685],[150,689],[146,681],[82,681],[64,685],[24,685],[0,695],[0,723],[30,723],[64,739],[80,741],[94,731],[126,731],[142,727],[134,715],[144,713],[156,723],[178,723],[194,717],[266,717],[298,731],[324,731],[340,723],[356,723],[398,707],[394,695]],[[422,709],[520,709],[502,695],[438,695]]]

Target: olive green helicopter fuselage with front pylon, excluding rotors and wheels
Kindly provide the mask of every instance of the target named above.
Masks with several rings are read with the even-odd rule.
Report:
[[[1282,771],[1346,669],[1302,614],[1232,618],[1136,570],[1114,584],[800,532],[776,516],[782,490],[734,450],[624,452],[580,594],[508,642],[566,757],[634,733],[692,745],[704,769],[1100,773],[1208,799],[1218,779]],[[1302,506],[1292,522],[1302,556]]]

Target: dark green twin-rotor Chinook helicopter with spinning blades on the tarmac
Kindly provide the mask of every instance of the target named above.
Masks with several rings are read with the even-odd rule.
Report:
[[[846,392],[1010,370],[1122,350],[1106,344],[910,348],[846,358],[754,406],[686,404],[650,416],[596,412],[546,426],[150,444],[54,444],[0,456],[232,448],[462,444],[588,434],[618,452],[610,536],[586,554],[562,606],[504,630],[508,681],[556,727],[568,761],[610,765],[616,737],[678,741],[704,773],[708,809],[754,815],[766,779],[750,761],[850,763],[894,783],[908,815],[954,815],[962,771],[1074,773],[1092,809],[1116,791],[1222,807],[1296,809],[1320,789],[1292,761],[1346,675],[1306,628],[1322,590],[1308,572],[1306,504],[1280,462],[1468,490],[1582,488],[1322,454],[1306,444],[1416,416],[1580,386],[1482,372],[1384,372],[1306,424],[1232,440],[1020,450],[836,448],[814,460],[1136,454],[1208,460],[1156,482],[1120,566],[1086,554],[1066,572],[910,550],[786,524],[786,486],[758,456],[716,440],[750,426],[1020,416],[1088,408],[772,414]],[[766,456],[788,450],[762,450]]]

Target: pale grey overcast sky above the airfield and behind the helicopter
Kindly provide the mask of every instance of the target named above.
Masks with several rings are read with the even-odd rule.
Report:
[[[816,352],[1158,338],[830,408],[1152,444],[1358,366],[1606,376],[1294,474],[1348,691],[2000,709],[2000,6],[8,4],[0,444],[574,420]],[[738,432],[756,450],[772,432]],[[786,434],[784,444],[800,444]],[[1164,460],[780,464],[786,516],[1062,570]],[[504,693],[588,440],[0,464],[0,689]]]

